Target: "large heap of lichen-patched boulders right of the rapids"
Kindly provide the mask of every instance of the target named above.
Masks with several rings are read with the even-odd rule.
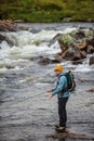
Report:
[[[67,61],[75,61],[73,64],[82,63],[88,53],[94,52],[94,30],[77,29],[69,34],[57,34],[50,42],[58,40],[62,50],[61,55]],[[58,55],[59,57],[59,55]]]

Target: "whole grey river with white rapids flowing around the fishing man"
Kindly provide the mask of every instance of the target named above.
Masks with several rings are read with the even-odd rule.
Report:
[[[0,43],[0,141],[83,141],[83,139],[46,138],[55,133],[58,124],[57,99],[48,99],[46,90],[54,86],[56,64],[40,65],[39,56],[53,57],[58,42],[49,46],[58,33],[94,28],[90,23],[19,24],[28,30],[0,33],[11,43]],[[72,68],[76,92],[67,103],[67,129],[94,138],[94,65],[72,65],[63,62],[65,70]],[[86,141],[88,139],[85,139]],[[88,141],[92,141],[89,139]]]

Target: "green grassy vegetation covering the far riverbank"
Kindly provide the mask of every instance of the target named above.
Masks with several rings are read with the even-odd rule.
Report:
[[[94,0],[1,0],[0,18],[26,22],[94,22]]]

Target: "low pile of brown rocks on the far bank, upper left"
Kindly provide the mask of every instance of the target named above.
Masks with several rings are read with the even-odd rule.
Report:
[[[11,20],[0,21],[1,31],[16,31],[18,29],[17,25]]]

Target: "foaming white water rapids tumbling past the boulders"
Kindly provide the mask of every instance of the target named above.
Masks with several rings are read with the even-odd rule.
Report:
[[[50,55],[53,57],[55,53],[61,51],[57,41],[52,46],[49,46],[53,37],[57,34],[69,33],[78,27],[63,26],[63,28],[61,27],[56,30],[41,29],[36,34],[32,34],[30,28],[29,30],[19,30],[16,33],[1,33],[1,35],[5,36],[11,43],[8,43],[6,41],[0,43],[0,72],[6,70],[8,68],[21,69],[26,67],[33,57],[41,55]],[[85,72],[93,69],[93,66],[89,66],[89,57],[90,55],[88,55],[88,59],[84,60],[82,65],[75,65],[76,70]],[[70,62],[63,64],[67,64],[71,67]]]

